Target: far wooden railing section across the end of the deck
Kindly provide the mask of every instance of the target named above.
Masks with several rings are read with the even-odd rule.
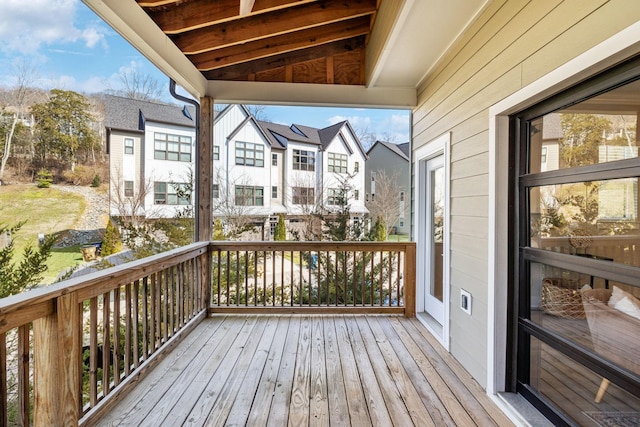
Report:
[[[403,313],[415,243],[211,242],[212,312]]]

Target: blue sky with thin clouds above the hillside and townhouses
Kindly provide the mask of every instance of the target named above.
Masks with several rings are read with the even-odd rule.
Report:
[[[119,89],[119,76],[134,70],[165,86],[163,100],[172,101],[168,78],[80,0],[0,0],[0,86],[13,86],[24,63],[35,70],[35,85],[81,93]],[[271,106],[264,115],[318,128],[349,120],[357,132],[409,140],[406,110]]]

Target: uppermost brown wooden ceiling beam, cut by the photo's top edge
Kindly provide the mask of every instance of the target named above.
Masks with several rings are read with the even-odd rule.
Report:
[[[244,0],[158,1],[165,2],[166,6],[148,7],[147,13],[166,34],[179,34],[239,18],[241,1]],[[250,14],[268,13],[314,1],[317,0],[255,0]]]

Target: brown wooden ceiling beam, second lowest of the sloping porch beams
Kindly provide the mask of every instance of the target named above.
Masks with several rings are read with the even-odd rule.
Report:
[[[365,35],[368,32],[369,17],[362,16],[349,21],[336,22],[318,28],[276,36],[269,40],[257,40],[200,53],[191,56],[189,59],[199,70],[209,71],[241,62],[319,46],[337,40],[350,39]]]

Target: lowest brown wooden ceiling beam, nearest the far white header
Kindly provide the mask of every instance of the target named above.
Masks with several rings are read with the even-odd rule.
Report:
[[[364,50],[365,37],[358,36],[350,40],[341,40],[327,43],[309,49],[287,52],[268,58],[232,65],[217,70],[205,71],[202,73],[207,80],[238,80],[247,79],[249,75],[264,72],[275,68],[286,67],[301,62],[311,61],[319,58],[327,58],[344,52]]]

